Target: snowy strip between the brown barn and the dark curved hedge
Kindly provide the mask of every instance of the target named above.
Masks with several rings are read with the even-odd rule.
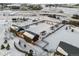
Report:
[[[21,49],[21,50],[23,50],[23,51],[27,51],[27,52],[29,52],[29,50],[31,49],[31,50],[33,50],[33,52],[34,52],[34,55],[42,55],[42,53],[45,53],[45,55],[47,54],[46,52],[44,52],[40,47],[38,47],[38,46],[35,46],[35,45],[33,45],[33,44],[30,44],[30,43],[28,43],[28,42],[25,42],[25,40],[23,40],[23,39],[21,39],[21,38],[18,38],[20,41],[21,41],[21,43],[22,43],[22,45],[21,46],[19,46],[18,45],[18,42],[16,42],[16,45]],[[26,45],[26,48],[23,48],[23,45]]]

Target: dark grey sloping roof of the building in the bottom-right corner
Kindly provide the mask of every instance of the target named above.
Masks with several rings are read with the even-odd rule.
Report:
[[[68,53],[69,56],[79,56],[79,48],[65,42],[60,42],[59,47]]]

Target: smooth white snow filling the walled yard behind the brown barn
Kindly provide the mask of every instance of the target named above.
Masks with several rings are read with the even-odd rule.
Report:
[[[40,23],[38,25],[30,26],[30,28],[28,28],[27,30],[40,34],[40,32],[48,30],[51,26],[52,25],[48,25],[46,23]]]

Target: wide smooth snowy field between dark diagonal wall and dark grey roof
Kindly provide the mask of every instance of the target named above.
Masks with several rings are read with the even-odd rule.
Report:
[[[79,47],[79,33],[71,32],[71,30],[65,30],[64,26],[57,32],[53,33],[49,37],[47,37],[45,40],[48,41],[50,44],[46,47],[49,51],[55,51],[60,41],[67,42],[71,45],[74,45],[76,47]]]

